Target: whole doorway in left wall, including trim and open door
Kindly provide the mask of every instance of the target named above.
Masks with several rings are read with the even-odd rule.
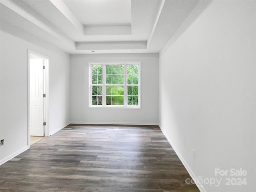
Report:
[[[28,50],[28,147],[49,136],[48,64],[47,56]]]

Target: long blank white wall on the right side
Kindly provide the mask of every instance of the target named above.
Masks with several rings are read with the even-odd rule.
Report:
[[[160,52],[160,127],[192,176],[222,179],[207,192],[256,191],[255,3],[199,2]],[[225,185],[239,177],[247,185]]]

